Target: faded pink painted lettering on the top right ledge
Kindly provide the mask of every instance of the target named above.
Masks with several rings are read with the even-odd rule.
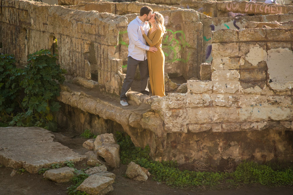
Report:
[[[240,5],[243,5],[239,2],[231,2],[226,4],[226,9],[228,11],[239,11],[241,9]],[[274,4],[255,4],[253,2],[246,3],[245,12],[253,12],[253,13],[265,13],[265,14],[280,14],[285,13],[282,6],[274,5]]]

